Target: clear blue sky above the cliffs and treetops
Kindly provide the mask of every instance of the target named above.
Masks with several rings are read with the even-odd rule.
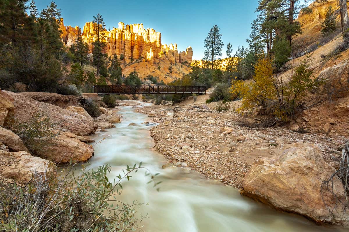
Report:
[[[36,0],[39,11],[51,0]],[[103,16],[106,28],[125,24],[143,23],[144,27],[161,32],[162,43],[177,43],[178,50],[193,48],[193,58],[203,57],[204,40],[210,28],[217,24],[225,46],[233,45],[233,53],[238,46],[246,46],[257,0],[216,0],[216,1],[96,1],[96,0],[56,0],[62,11],[65,25],[84,26],[93,20],[98,12]]]

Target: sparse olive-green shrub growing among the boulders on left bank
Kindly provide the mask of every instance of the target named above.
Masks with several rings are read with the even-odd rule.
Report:
[[[40,156],[47,151],[52,139],[60,134],[56,130],[57,125],[59,123],[52,123],[46,114],[38,112],[28,121],[15,121],[11,130],[22,139],[32,155]]]

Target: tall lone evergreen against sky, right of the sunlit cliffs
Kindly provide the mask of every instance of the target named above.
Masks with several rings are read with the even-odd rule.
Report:
[[[217,25],[214,25],[205,39],[205,57],[203,58],[206,61],[210,62],[211,69],[214,67],[214,61],[216,56],[222,56],[222,34],[219,33],[219,28]]]

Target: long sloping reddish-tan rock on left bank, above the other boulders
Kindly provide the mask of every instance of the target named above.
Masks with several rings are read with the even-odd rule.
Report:
[[[86,136],[92,134],[97,129],[97,124],[90,118],[76,114],[69,110],[64,110],[59,106],[38,102],[23,94],[16,94],[4,91],[14,99],[15,108],[10,111],[7,118],[15,118],[18,122],[28,121],[34,114],[42,112],[50,117],[51,122],[59,123],[58,128],[65,129],[74,134]],[[7,121],[10,125],[11,122]]]

